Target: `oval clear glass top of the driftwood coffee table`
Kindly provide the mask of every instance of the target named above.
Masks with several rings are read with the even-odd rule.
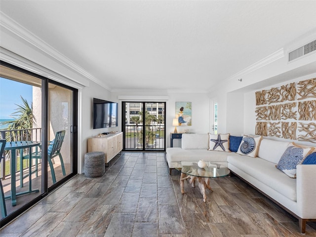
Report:
[[[205,161],[206,167],[200,168],[198,167],[197,162],[198,161],[181,161],[178,162],[178,167],[175,169],[187,175],[205,178],[223,177],[230,173],[230,170],[224,165]]]

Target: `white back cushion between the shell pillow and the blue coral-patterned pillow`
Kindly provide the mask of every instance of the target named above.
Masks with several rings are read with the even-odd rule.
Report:
[[[289,142],[262,139],[259,146],[258,157],[277,164],[289,144]]]

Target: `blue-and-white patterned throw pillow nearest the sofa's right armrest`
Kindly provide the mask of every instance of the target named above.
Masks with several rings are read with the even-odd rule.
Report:
[[[311,151],[311,148],[297,147],[291,143],[278,161],[276,168],[283,171],[287,176],[296,178],[296,165],[302,163],[302,160]]]

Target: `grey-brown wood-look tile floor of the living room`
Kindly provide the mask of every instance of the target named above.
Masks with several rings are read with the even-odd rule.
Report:
[[[83,174],[0,230],[1,237],[298,237],[298,221],[238,177],[197,188],[172,176],[164,153],[122,153],[104,176]],[[308,222],[306,236],[316,237]]]

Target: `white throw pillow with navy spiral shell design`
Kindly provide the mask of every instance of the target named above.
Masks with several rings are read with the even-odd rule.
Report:
[[[256,157],[262,137],[243,135],[237,153],[249,157]]]

